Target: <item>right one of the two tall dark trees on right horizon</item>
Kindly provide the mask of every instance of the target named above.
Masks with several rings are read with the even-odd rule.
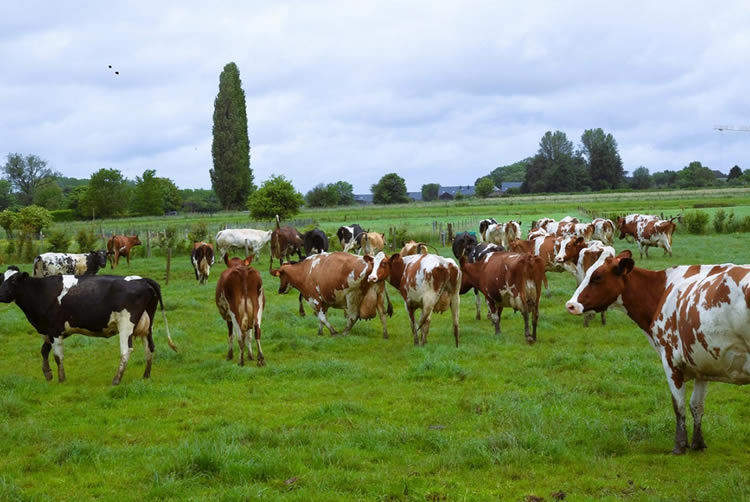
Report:
[[[581,153],[589,170],[592,190],[617,188],[623,184],[625,170],[614,136],[601,128],[586,129],[581,135]]]

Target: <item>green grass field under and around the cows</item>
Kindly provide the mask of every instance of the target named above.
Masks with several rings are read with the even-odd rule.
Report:
[[[673,209],[652,204],[651,212]],[[532,209],[525,229],[569,206]],[[441,208],[389,211],[372,226],[445,218]],[[319,220],[333,227],[361,216],[331,214]],[[747,242],[678,231],[674,258],[652,250],[636,264],[747,263]],[[618,242],[625,247],[637,250]],[[469,294],[460,347],[442,314],[428,345],[415,348],[390,286],[390,339],[377,320],[318,337],[317,321],[296,314],[296,295],[277,294],[267,255],[257,265],[267,295],[263,368],[224,360],[226,327],[213,301],[223,266],[201,287],[184,256],[168,286],[163,257],[115,270],[163,285],[180,351],[169,350],[157,317],[150,381],[141,380],[136,347],[122,384],[110,387],[117,339],[76,335],[65,343],[68,380],[47,383],[40,338],[15,305],[0,304],[0,499],[750,500],[747,390],[709,385],[709,448],[672,456],[674,416],[656,353],[620,312],[589,328],[567,314],[575,287],[567,274],[548,274],[534,346],[508,309],[495,337],[488,320],[474,319]]]

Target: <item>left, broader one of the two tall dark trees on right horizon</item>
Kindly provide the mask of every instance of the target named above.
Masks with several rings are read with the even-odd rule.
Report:
[[[526,169],[521,191],[577,192],[590,189],[586,163],[573,151],[573,143],[562,131],[547,131],[539,150]]]

